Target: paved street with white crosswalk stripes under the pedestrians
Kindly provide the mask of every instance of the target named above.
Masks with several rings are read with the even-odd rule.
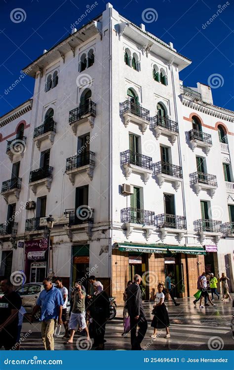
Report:
[[[177,299],[177,301],[181,304],[177,307],[174,306],[172,301],[166,302],[171,322],[171,337],[165,339],[163,338],[165,331],[159,331],[160,335],[155,341],[150,338],[152,334],[150,325],[153,318],[151,315],[153,303],[144,303],[148,319],[148,330],[142,343],[145,349],[207,350],[209,347],[220,349],[223,347],[224,350],[233,349],[234,340],[230,329],[233,308],[230,301],[215,300],[216,307],[210,306],[201,310],[198,304],[196,307],[194,306],[192,298]],[[123,329],[122,308],[117,307],[116,319],[110,321],[106,326],[106,350],[130,349],[130,333],[126,337],[121,336]],[[21,350],[43,350],[40,338],[40,324],[34,323],[30,325],[25,322],[22,333],[27,333],[29,330],[32,333],[25,335],[26,338],[21,345]],[[76,342],[80,336],[76,335],[74,344],[69,346],[63,344],[64,339],[62,336],[63,333],[61,332],[60,337],[55,338],[55,350],[77,350]]]

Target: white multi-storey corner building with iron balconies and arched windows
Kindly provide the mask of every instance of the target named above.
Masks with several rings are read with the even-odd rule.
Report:
[[[2,182],[13,179],[0,275],[71,286],[92,274],[119,302],[135,273],[145,298],[170,271],[177,296],[192,296],[204,269],[233,280],[234,112],[213,106],[208,86],[182,85],[190,63],[108,3],[25,68],[34,96],[0,119]],[[8,138],[23,155],[6,153]]]

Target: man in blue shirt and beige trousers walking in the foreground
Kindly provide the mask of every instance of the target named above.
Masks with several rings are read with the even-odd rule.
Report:
[[[44,290],[40,292],[37,304],[34,307],[31,322],[35,314],[41,311],[41,337],[45,350],[54,350],[54,330],[57,324],[62,325],[62,306],[64,304],[61,292],[55,288],[50,278],[43,281]]]

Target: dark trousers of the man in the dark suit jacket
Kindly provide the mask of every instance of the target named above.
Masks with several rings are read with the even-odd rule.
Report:
[[[138,334],[136,335],[137,326],[139,326]],[[140,316],[138,320],[135,320],[134,316],[130,316],[130,333],[131,333],[131,346],[132,350],[141,349],[141,342],[147,331],[147,321],[144,316]]]

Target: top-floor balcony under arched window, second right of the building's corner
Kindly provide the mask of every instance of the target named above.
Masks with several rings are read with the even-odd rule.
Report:
[[[156,139],[158,140],[160,135],[164,134],[169,136],[169,141],[174,145],[176,138],[179,135],[178,123],[167,117],[160,117],[158,115],[151,117],[150,120],[150,127],[155,130]]]

